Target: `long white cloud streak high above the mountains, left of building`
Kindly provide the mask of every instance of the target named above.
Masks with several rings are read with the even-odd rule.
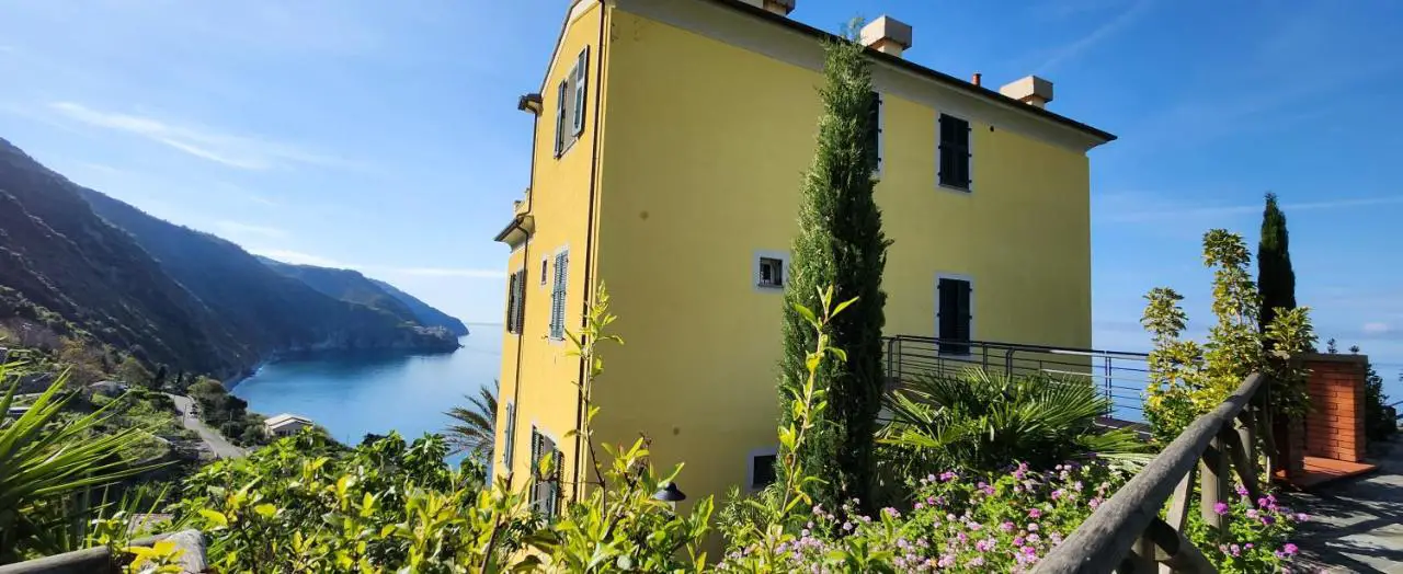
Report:
[[[56,101],[48,107],[80,124],[145,138],[191,156],[240,170],[264,171],[297,164],[355,167],[338,157],[264,138],[236,136],[149,116],[107,112],[70,101]]]

